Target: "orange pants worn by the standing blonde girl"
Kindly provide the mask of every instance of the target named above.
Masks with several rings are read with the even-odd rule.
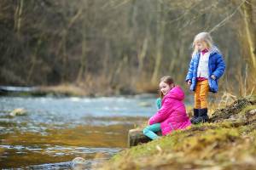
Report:
[[[195,86],[195,109],[207,108],[207,97],[209,92],[208,80],[198,81]]]

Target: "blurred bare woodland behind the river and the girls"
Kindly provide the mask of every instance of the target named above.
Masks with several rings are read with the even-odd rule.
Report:
[[[255,93],[255,0],[1,0],[0,84],[90,93],[155,92],[184,82],[191,43],[210,31],[222,92]]]

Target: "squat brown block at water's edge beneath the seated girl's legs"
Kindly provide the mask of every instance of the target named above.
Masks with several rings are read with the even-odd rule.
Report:
[[[143,134],[143,129],[136,128],[129,130],[128,147],[136,146],[137,144],[147,143],[150,140],[151,139]]]

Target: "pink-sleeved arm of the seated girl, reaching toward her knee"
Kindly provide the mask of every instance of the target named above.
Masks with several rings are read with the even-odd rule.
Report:
[[[166,99],[167,100],[167,99]],[[157,111],[154,116],[150,117],[148,123],[152,125],[157,122],[163,122],[172,113],[172,102],[165,101],[161,106],[160,110]]]

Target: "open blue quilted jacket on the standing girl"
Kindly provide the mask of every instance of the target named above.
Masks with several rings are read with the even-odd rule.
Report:
[[[195,91],[195,85],[196,85],[196,76],[197,76],[197,67],[199,64],[200,59],[200,53],[196,53],[192,56],[192,59],[189,64],[189,71],[186,77],[186,82],[188,80],[191,80],[190,90]],[[222,57],[222,54],[219,53],[218,48],[213,48],[210,50],[210,56],[209,56],[209,90],[212,93],[218,92],[218,79],[224,74],[225,70],[225,63],[224,59]],[[215,80],[211,78],[211,76],[214,75],[216,77]]]

